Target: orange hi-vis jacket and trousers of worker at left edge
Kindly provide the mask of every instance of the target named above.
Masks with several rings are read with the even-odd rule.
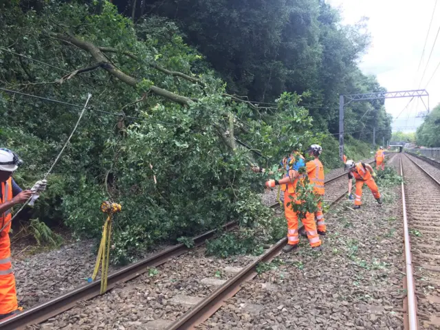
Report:
[[[12,199],[12,178],[1,183],[1,203]],[[12,219],[11,210],[0,215],[0,228]],[[0,232],[0,314],[8,314],[18,308],[14,272],[11,263],[9,230],[11,222]]]

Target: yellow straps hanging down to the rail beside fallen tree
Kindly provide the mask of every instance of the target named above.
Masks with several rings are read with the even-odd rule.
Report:
[[[96,276],[99,272],[99,266],[101,264],[101,294],[107,291],[107,277],[109,276],[109,259],[110,259],[110,241],[111,241],[111,227],[113,214],[121,211],[120,204],[110,203],[109,201],[104,201],[101,204],[101,210],[107,213],[107,220],[102,228],[102,239],[99,245],[98,256],[96,257],[96,264],[94,269],[94,274],[89,278],[89,282],[95,281]]]

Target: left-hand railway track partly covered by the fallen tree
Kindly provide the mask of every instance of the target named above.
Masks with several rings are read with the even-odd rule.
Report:
[[[327,195],[326,200],[331,203],[331,205],[338,203],[340,199],[342,199],[346,194],[347,190],[345,188],[347,181],[339,180],[342,177],[347,175],[346,173],[342,175],[338,175],[333,179],[330,179],[326,182],[327,192],[331,192]],[[329,186],[327,186],[329,184]],[[343,193],[341,193],[343,192]],[[272,207],[278,207],[279,204],[276,203]],[[234,223],[228,223],[225,225],[225,230],[231,229],[234,227]],[[212,230],[206,234],[201,236],[197,236],[195,238],[195,246],[202,245],[206,239],[209,239],[215,234],[215,231]],[[256,276],[256,267],[260,263],[271,261],[274,256],[281,252],[281,249],[287,242],[287,239],[282,239],[278,241],[278,243],[274,244],[269,250],[267,250],[263,255],[257,257],[251,263],[244,265],[241,263],[240,267],[234,267],[234,265],[217,265],[212,263],[212,261],[203,261],[204,268],[206,268],[204,275],[214,274],[215,272],[219,272],[221,267],[225,268],[225,271],[222,272],[224,275],[221,280],[217,278],[206,278],[203,283],[202,292],[197,296],[197,299],[192,299],[189,294],[177,295],[177,297],[173,297],[171,299],[174,302],[174,305],[185,305],[184,309],[179,309],[179,311],[164,311],[164,314],[168,312],[175,313],[175,322],[160,322],[159,318],[148,321],[152,322],[151,327],[148,329],[192,329],[196,325],[200,325],[201,322],[206,320],[209,316],[214,314],[227,300],[228,298],[234,296],[236,292],[241,289],[241,285],[245,283],[245,281],[249,281],[250,279]],[[185,245],[180,244],[176,245],[173,248],[166,249],[158,254],[154,254],[150,256],[148,259],[140,261],[139,263],[135,263],[128,267],[124,267],[123,269],[115,272],[109,276],[109,289],[115,289],[112,292],[124,291],[126,290],[126,282],[135,281],[135,285],[140,285],[142,280],[148,278],[148,270],[151,267],[155,267],[158,265],[164,265],[171,261],[171,263],[176,261],[176,257],[188,252],[188,248]],[[212,266],[212,267],[211,267]],[[197,270],[197,266],[195,267]],[[229,270],[228,270],[229,268]],[[175,271],[175,269],[173,270]],[[144,277],[142,277],[144,274]],[[141,277],[140,277],[141,276]],[[191,275],[192,278],[197,278],[198,274]],[[191,277],[190,276],[190,277]],[[202,277],[203,277],[202,276]],[[137,281],[140,279],[140,281]],[[197,278],[197,281],[203,281],[205,278]],[[131,283],[131,282],[130,282]],[[26,329],[26,327],[37,327],[39,323],[42,323],[46,320],[55,320],[54,316],[57,316],[64,311],[69,309],[78,309],[78,311],[74,311],[73,315],[77,315],[80,313],[81,309],[87,308],[89,302],[87,300],[91,300],[91,298],[95,298],[99,295],[99,282],[91,283],[89,285],[85,285],[83,287],[79,287],[72,292],[59,296],[55,299],[49,300],[46,303],[41,305],[36,305],[23,311],[23,313],[18,314],[14,318],[10,318],[8,320],[3,320],[0,322],[1,329]],[[270,288],[269,288],[270,289]],[[154,291],[154,287],[144,287],[144,292],[151,293]],[[138,292],[138,290],[136,291]],[[134,292],[133,292],[134,293]],[[184,292],[188,293],[188,292]],[[191,294],[197,294],[197,289],[194,292],[189,292]],[[107,294],[106,294],[107,295]],[[105,296],[99,296],[94,300],[99,300],[101,303],[105,300]],[[200,296],[203,296],[200,297]],[[168,300],[170,297],[162,297],[160,300]],[[100,305],[100,302],[93,303]],[[168,313],[169,314],[169,313]],[[163,315],[163,314],[162,314]],[[97,316],[97,318],[102,318],[102,316]],[[72,318],[71,318],[72,319]],[[47,324],[50,325],[50,322]],[[50,328],[45,327],[45,324],[42,325],[42,329],[59,329],[59,328]],[[61,327],[61,326],[60,326]],[[87,328],[85,328],[87,329]],[[145,329],[143,326],[137,328],[137,325],[133,325],[133,329]]]

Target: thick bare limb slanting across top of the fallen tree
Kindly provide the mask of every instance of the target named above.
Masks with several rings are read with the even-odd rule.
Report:
[[[99,47],[97,47],[93,43],[89,43],[88,41],[83,41],[81,39],[78,39],[76,36],[72,36],[72,35],[66,35],[61,33],[51,33],[50,35],[56,39],[61,39],[61,41],[67,41],[69,43],[72,43],[73,45],[76,45],[76,47],[79,47],[80,49],[89,52],[89,54],[94,58],[96,62],[105,64],[102,68],[105,69],[107,72],[109,72],[109,74],[111,74],[115,78],[118,78],[123,83],[126,83],[131,87],[137,87],[137,84],[139,82],[132,76],[125,74],[120,69],[117,69],[113,64],[109,63],[107,58],[100,51]],[[156,94],[157,96],[162,96],[163,98],[166,98],[173,102],[177,102],[182,105],[189,106],[193,102],[190,98],[186,98],[185,96],[180,96],[178,94],[173,93],[172,91],[167,91],[166,89],[162,89],[160,87],[151,86],[150,91]]]

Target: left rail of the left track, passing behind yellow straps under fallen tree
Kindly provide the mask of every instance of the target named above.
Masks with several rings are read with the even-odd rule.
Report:
[[[230,222],[223,225],[223,230],[232,230],[236,227],[236,222]],[[195,246],[202,245],[207,239],[210,239],[217,230],[210,230],[204,234],[196,236],[192,239]],[[121,268],[120,270],[113,272],[107,279],[107,291],[117,286],[119,283],[130,281],[131,279],[144,274],[148,270],[148,267],[157,267],[168,261],[168,259],[174,256],[179,256],[190,250],[183,243],[177,244],[171,248],[167,248],[146,259],[133,263],[132,265]],[[100,295],[100,281],[94,281],[93,283],[78,287],[71,292],[62,294],[54,299],[48,300],[45,303],[25,309],[23,312],[0,321],[0,329],[5,330],[17,330],[27,329],[30,325],[39,324],[49,318],[52,318],[58,314],[71,309],[76,304],[83,300],[89,300]]]

